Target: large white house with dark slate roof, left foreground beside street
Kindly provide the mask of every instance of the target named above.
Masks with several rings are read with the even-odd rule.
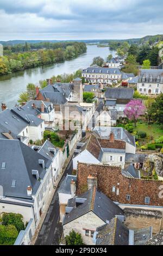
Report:
[[[12,157],[9,157],[12,156]],[[0,139],[0,212],[33,220],[31,237],[54,186],[51,161],[16,139]]]

